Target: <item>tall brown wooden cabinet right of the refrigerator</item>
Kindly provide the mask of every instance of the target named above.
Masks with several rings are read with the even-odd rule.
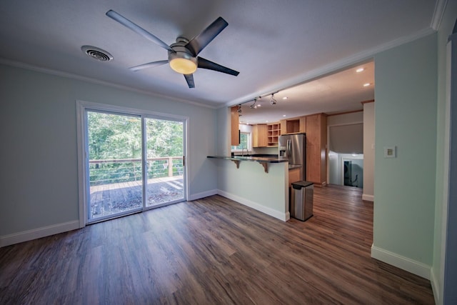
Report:
[[[306,116],[306,181],[327,184],[327,116]]]

